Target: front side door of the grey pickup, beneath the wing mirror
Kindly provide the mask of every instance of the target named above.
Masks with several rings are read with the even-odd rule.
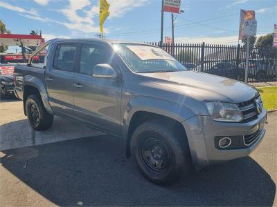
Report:
[[[102,44],[82,44],[80,70],[75,74],[73,94],[76,117],[94,127],[120,135],[120,100],[122,82],[118,79],[93,77],[93,67],[116,63],[109,48]],[[117,68],[119,72],[119,68]]]

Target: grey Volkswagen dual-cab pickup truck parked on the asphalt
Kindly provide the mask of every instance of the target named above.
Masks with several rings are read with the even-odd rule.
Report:
[[[45,49],[44,64],[32,63]],[[253,86],[187,70],[143,43],[53,39],[14,75],[35,130],[57,115],[121,137],[127,157],[156,184],[247,156],[265,135],[267,111]]]

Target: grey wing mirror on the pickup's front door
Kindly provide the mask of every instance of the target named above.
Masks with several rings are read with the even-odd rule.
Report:
[[[93,77],[116,79],[117,74],[109,64],[97,64],[93,67]]]

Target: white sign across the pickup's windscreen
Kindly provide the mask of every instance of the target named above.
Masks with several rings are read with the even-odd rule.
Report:
[[[161,48],[154,48],[150,46],[127,46],[129,50],[134,52],[134,54],[139,57],[141,60],[150,60],[150,59],[166,59],[166,60],[175,60],[173,57],[168,55]]]

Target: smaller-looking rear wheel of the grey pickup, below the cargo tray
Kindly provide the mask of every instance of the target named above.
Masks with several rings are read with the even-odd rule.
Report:
[[[30,95],[25,104],[26,114],[30,126],[35,130],[46,130],[53,124],[53,115],[50,115],[38,95]]]

